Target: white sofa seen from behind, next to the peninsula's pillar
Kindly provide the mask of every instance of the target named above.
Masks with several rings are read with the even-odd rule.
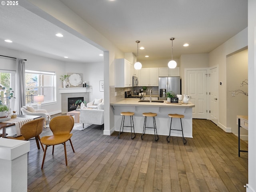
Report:
[[[103,105],[104,106],[104,105]],[[80,109],[80,122],[100,125],[104,124],[104,110],[102,109]]]

